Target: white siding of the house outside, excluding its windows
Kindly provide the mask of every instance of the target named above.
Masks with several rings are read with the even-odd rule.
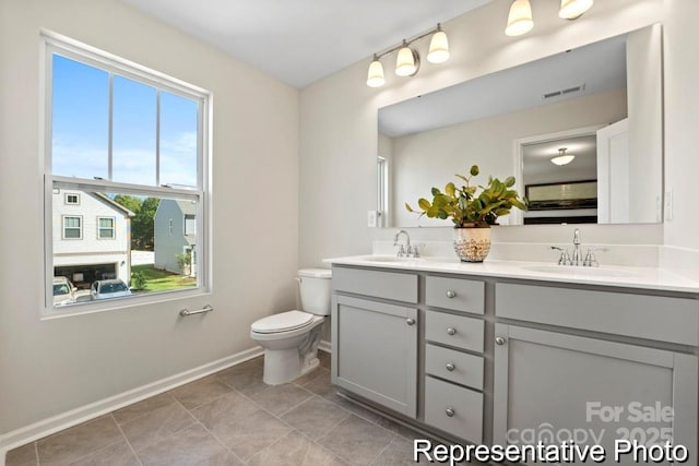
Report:
[[[80,196],[79,204],[67,204],[66,194]],[[63,238],[63,217],[82,217],[82,238]],[[115,219],[114,239],[98,238],[98,218],[110,217]],[[131,276],[130,261],[130,218],[128,211],[114,206],[98,194],[83,191],[59,189],[54,191],[54,267],[88,265],[98,266],[104,271],[104,276],[94,278],[111,278],[110,271],[114,267],[114,278],[129,282]],[[78,271],[76,271],[78,272]],[[74,279],[73,276],[69,276]],[[87,278],[87,277],[85,277]]]

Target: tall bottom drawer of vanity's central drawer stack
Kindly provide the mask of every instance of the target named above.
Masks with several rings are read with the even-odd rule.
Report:
[[[473,443],[483,442],[483,393],[425,378],[425,422]]]

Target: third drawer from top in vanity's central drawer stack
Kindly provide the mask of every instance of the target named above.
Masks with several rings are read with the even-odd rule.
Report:
[[[483,357],[427,345],[425,371],[476,390],[483,390]]]

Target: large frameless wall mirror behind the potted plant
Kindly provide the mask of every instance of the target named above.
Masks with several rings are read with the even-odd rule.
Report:
[[[404,204],[473,164],[476,182],[513,175],[530,201],[501,225],[662,222],[661,35],[648,26],[380,108],[381,225],[447,226]]]

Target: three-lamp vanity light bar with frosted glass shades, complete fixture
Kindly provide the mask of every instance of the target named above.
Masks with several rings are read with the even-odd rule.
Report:
[[[419,70],[419,53],[417,50],[411,47],[411,45],[422,38],[431,35],[429,43],[429,51],[427,53],[427,61],[430,63],[443,63],[449,59],[449,39],[447,34],[441,29],[441,24],[437,24],[437,27],[413,37],[410,40],[403,39],[403,41],[390,49],[382,51],[381,53],[375,53],[369,70],[367,73],[367,86],[381,87],[386,84],[386,77],[383,75],[383,64],[381,64],[381,58],[398,50],[395,57],[395,74],[399,76],[414,76]]]

